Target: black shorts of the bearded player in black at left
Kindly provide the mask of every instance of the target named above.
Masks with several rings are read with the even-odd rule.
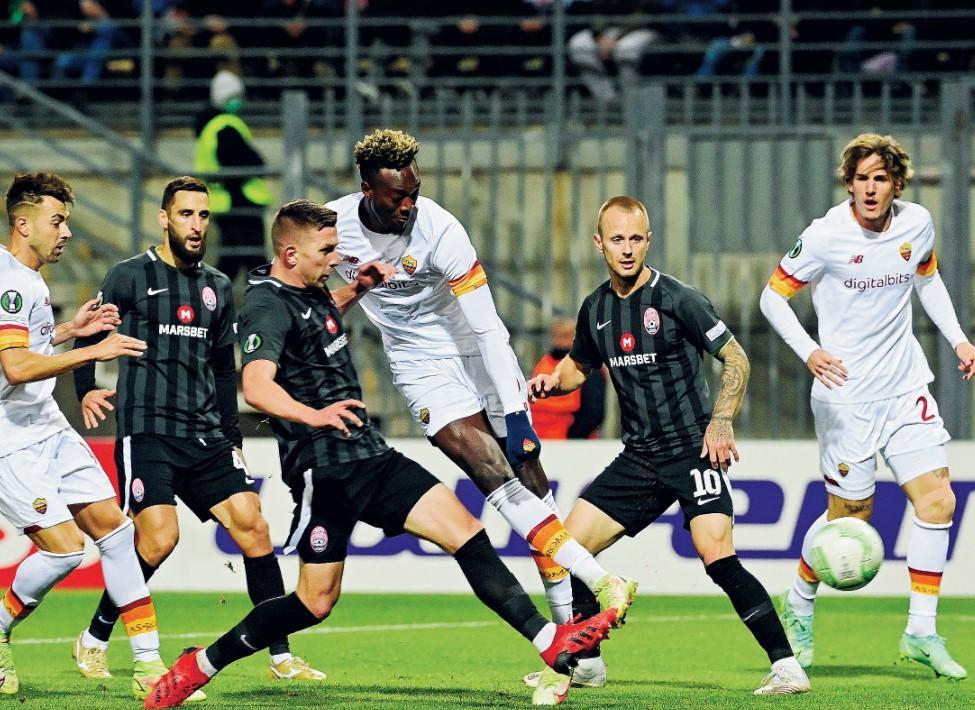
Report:
[[[234,493],[253,492],[243,461],[227,439],[177,439],[133,434],[115,442],[122,510],[176,505],[176,496],[200,520]]]

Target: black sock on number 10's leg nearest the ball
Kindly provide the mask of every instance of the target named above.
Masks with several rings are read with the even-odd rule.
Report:
[[[724,590],[738,616],[772,663],[793,655],[785,629],[762,583],[741,566],[738,555],[712,562],[704,571]]]

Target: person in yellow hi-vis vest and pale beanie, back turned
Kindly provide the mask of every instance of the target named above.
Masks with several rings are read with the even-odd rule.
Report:
[[[197,117],[193,169],[212,175],[223,169],[263,168],[250,129],[238,116],[244,104],[244,82],[222,69],[210,82],[211,108]],[[210,213],[220,230],[217,269],[231,281],[267,262],[262,211],[273,197],[263,177],[207,177]]]

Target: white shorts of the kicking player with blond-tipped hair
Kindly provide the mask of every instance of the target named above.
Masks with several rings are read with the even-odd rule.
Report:
[[[399,361],[390,363],[390,367],[393,384],[427,436],[432,437],[450,422],[481,410],[487,414],[495,436],[507,435],[501,399],[480,355]],[[528,385],[513,353],[511,376],[516,378],[518,390],[527,401]]]

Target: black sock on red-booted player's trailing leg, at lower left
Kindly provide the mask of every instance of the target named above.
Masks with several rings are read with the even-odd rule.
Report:
[[[207,658],[214,668],[220,670],[267,648],[282,634],[287,636],[318,622],[319,619],[308,611],[294,592],[268,599],[251,609],[239,624],[209,646],[206,649]]]

